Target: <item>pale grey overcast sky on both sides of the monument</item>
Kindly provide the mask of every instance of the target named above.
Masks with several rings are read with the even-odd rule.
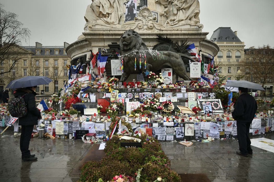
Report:
[[[30,46],[72,43],[84,31],[84,14],[91,0],[0,0],[5,10],[18,14],[31,31]],[[245,48],[274,46],[274,0],[200,0],[200,23],[210,39],[218,27],[238,31]],[[27,46],[29,42],[22,42]]]

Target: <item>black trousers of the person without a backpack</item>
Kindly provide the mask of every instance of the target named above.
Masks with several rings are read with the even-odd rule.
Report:
[[[249,138],[249,127],[251,122],[239,122],[237,121],[237,135],[239,142],[239,150],[242,154],[247,154],[247,152],[251,152],[251,141]]]

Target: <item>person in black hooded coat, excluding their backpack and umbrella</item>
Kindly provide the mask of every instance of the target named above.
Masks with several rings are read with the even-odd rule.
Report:
[[[34,87],[19,88],[14,92],[14,96],[23,96],[27,105],[27,115],[19,118],[19,125],[21,125],[20,149],[22,152],[22,160],[32,161],[36,160],[35,154],[30,154],[28,146],[32,137],[33,126],[38,124],[38,119],[41,119],[41,113],[36,108],[35,103],[35,89]]]

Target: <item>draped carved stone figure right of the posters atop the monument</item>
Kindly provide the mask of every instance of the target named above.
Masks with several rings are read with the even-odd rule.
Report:
[[[161,3],[165,8],[160,13],[161,16],[166,16],[167,24],[176,25],[180,21],[189,20],[190,24],[199,25],[200,19],[200,4],[198,0],[155,0],[156,3]]]

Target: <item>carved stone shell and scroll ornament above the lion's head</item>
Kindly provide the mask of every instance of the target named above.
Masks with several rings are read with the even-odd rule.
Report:
[[[143,8],[139,11],[138,17],[134,18],[136,26],[142,30],[152,30],[155,27],[156,17],[153,17],[152,12],[148,8]],[[135,29],[136,26],[132,29]]]

